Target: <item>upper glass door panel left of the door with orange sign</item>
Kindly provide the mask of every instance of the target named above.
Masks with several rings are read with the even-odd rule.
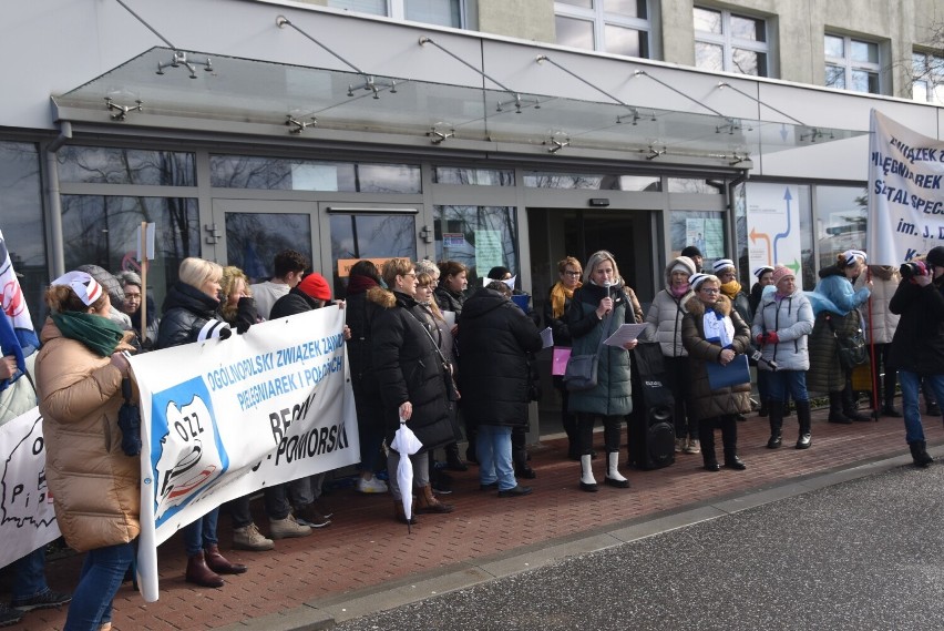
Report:
[[[252,283],[271,277],[273,261],[283,250],[300,252],[318,268],[312,245],[320,231],[311,202],[216,199],[213,223],[205,230],[217,261],[239,267]]]

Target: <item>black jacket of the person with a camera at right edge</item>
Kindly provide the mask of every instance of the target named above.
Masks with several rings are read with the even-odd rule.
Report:
[[[944,373],[944,295],[942,286],[926,287],[904,281],[895,289],[889,311],[900,314],[889,364],[919,375]]]

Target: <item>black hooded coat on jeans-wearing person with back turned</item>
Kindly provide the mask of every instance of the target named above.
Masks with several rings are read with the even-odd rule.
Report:
[[[462,414],[476,425],[527,425],[527,354],[541,334],[517,305],[482,287],[459,320]]]

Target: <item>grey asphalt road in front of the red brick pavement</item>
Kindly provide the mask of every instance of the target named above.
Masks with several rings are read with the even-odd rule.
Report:
[[[944,629],[942,499],[901,467],[336,629]]]

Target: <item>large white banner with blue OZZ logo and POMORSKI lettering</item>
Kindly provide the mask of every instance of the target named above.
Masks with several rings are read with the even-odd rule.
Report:
[[[232,499],[360,458],[337,305],[131,359],[141,391],[141,592],[157,546]]]

